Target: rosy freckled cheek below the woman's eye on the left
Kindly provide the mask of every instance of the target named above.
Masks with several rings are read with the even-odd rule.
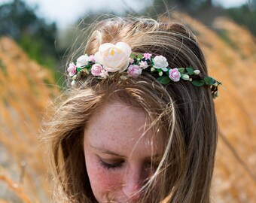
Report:
[[[86,165],[90,179],[90,186],[96,197],[98,195],[104,195],[105,193],[115,192],[120,188],[122,175],[118,169],[108,170],[106,168],[102,168],[98,159],[95,157],[87,157]]]

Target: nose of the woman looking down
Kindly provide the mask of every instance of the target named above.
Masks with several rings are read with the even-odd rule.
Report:
[[[142,197],[142,192],[139,191],[142,187],[142,183],[142,171],[139,168],[130,168],[126,171],[123,180],[123,193],[130,201],[136,202]]]

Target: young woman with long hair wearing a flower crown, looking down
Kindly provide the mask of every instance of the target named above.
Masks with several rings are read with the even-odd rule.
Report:
[[[84,43],[47,129],[56,201],[209,202],[221,83],[195,36],[114,18]]]

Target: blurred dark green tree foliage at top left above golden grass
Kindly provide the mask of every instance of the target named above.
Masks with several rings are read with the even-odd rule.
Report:
[[[47,67],[56,66],[56,25],[47,24],[22,0],[0,6],[0,36],[14,38],[31,59]]]

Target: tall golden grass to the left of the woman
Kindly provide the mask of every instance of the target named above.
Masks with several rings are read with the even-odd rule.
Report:
[[[38,134],[45,107],[58,89],[50,85],[52,73],[9,38],[0,39],[0,66],[0,198],[46,202],[50,180]]]

